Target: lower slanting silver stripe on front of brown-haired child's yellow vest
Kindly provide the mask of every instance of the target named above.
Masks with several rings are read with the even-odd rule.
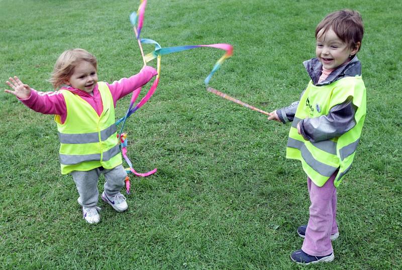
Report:
[[[338,169],[337,167],[332,167],[316,160],[303,142],[289,138],[287,140],[287,147],[298,149],[302,153],[305,162],[323,176],[330,177]]]

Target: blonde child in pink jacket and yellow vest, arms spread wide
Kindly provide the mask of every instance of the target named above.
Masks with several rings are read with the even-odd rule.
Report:
[[[24,84],[17,76],[6,83],[29,108],[44,114],[55,114],[59,130],[62,174],[71,173],[88,223],[100,220],[97,207],[99,175],[105,175],[102,199],[116,211],[128,208],[120,193],[127,176],[122,166],[115,123],[116,102],[143,86],[157,75],[154,68],[144,66],[130,78],[112,84],[98,82],[96,58],[83,49],[63,52],[50,79],[54,92],[41,92]],[[107,150],[106,150],[107,149]]]

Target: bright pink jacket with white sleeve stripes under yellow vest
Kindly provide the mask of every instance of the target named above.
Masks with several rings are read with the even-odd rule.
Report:
[[[157,72],[153,67],[145,66],[138,74],[133,75],[130,78],[122,78],[119,81],[114,81],[112,84],[107,83],[110,92],[112,93],[114,106],[116,107],[116,102],[120,98],[130,94],[138,87],[143,86],[156,74]],[[61,89],[67,89],[72,93],[79,95],[93,107],[99,116],[102,114],[104,108],[97,84],[93,89],[93,96],[80,89],[75,89],[72,87],[63,87]],[[60,91],[40,92],[36,91],[35,89],[31,89],[31,95],[26,99],[20,100],[34,111],[44,114],[60,115],[60,120],[62,123],[64,123],[67,117],[66,103],[64,101],[64,96]]]

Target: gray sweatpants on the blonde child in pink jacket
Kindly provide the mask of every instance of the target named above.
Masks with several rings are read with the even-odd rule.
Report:
[[[105,192],[110,197],[114,197],[120,192],[127,176],[126,170],[122,165],[113,169],[99,167],[86,172],[72,171],[71,176],[78,190],[78,203],[80,205],[85,207],[96,206],[99,197],[97,181],[100,174],[105,175]]]

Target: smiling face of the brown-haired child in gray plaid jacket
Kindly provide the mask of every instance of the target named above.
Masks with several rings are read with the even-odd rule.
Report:
[[[317,35],[316,56],[325,69],[334,69],[344,64],[349,56],[355,55],[359,46],[360,42],[351,48],[332,29],[326,32],[322,29]]]

